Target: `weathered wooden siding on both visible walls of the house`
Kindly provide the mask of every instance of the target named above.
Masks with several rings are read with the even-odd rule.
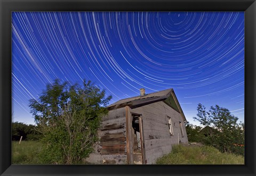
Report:
[[[109,111],[102,118],[99,130],[100,142],[95,149],[95,159],[104,160],[105,164],[129,164],[133,162],[129,129],[131,130],[131,113],[142,114],[143,139],[147,164],[154,164],[158,157],[171,152],[172,145],[187,143],[184,121],[179,112],[164,102],[156,102],[145,106],[130,108],[129,106]],[[172,120],[174,135],[170,135],[168,117]],[[184,137],[181,137],[180,122]],[[179,137],[178,137],[179,134]],[[104,156],[104,157],[103,157]],[[121,160],[122,159],[122,160]],[[122,161],[122,162],[121,162]],[[125,161],[125,162],[124,162]]]

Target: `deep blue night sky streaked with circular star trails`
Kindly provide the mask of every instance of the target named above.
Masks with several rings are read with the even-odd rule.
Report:
[[[13,121],[59,78],[92,80],[111,103],[173,88],[187,120],[198,103],[244,121],[244,12],[13,12]]]

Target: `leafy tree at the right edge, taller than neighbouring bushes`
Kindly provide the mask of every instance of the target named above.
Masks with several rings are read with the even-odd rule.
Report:
[[[236,116],[231,114],[227,108],[218,105],[211,106],[209,111],[205,111],[201,103],[197,106],[197,112],[195,120],[218,131],[205,138],[206,145],[212,145],[221,152],[244,155],[244,148],[241,147],[244,145],[244,124],[237,123]]]

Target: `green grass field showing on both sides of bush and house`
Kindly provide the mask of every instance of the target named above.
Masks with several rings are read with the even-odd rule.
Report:
[[[43,164],[38,158],[42,149],[39,141],[21,141],[20,145],[19,141],[12,141],[12,164]],[[156,164],[244,164],[244,157],[208,146],[173,146],[172,152],[158,158]]]

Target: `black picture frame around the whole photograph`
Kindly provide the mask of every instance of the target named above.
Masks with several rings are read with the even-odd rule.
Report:
[[[256,3],[255,0],[0,0],[1,175],[255,175]],[[244,11],[244,165],[11,165],[12,11]]]

